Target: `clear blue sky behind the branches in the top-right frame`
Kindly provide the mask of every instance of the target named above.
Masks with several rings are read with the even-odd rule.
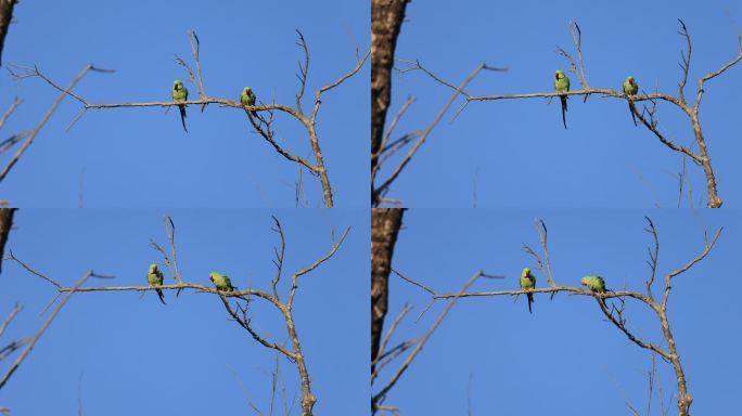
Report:
[[[420,60],[456,84],[483,61],[510,68],[479,75],[468,88],[471,94],[548,92],[553,90],[554,69],[568,69],[554,50],[559,44],[574,51],[567,29],[574,18],[583,30],[592,87],[619,89],[632,75],[643,89],[657,84],[660,91],[677,94],[685,44],[677,34],[678,17],[693,38],[687,95],[694,98],[698,79],[737,54],[737,34],[742,34],[739,2],[412,2],[397,57]],[[570,76],[574,89],[578,82]],[[742,152],[742,125],[735,117],[742,66],[706,86],[701,121],[719,195],[727,207],[740,207],[742,187],[733,181],[740,177],[737,155]],[[423,73],[395,75],[389,117],[408,95],[417,98],[397,132],[427,126],[450,93]],[[460,105],[457,102],[438,125],[388,197],[401,198],[408,207],[471,207],[478,171],[479,206],[643,208],[655,199],[662,207],[677,202],[680,157],[645,129],[634,127],[625,101],[570,100],[568,130],[561,125],[558,101],[472,103],[449,125]],[[692,142],[690,126],[676,107],[661,104],[660,120],[667,136],[686,145]],[[689,172],[693,195],[705,197],[702,171],[689,166]]]

